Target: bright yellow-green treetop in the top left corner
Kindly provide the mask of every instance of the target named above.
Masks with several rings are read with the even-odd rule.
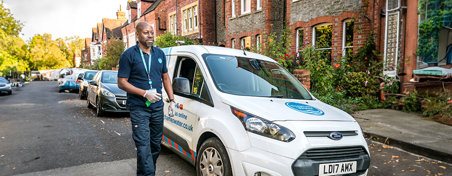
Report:
[[[3,0],[0,0],[0,28],[7,35],[18,37],[24,24],[15,20],[11,11],[3,6]]]

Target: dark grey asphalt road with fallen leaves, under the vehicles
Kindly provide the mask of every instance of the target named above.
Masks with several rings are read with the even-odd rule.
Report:
[[[86,109],[86,101],[80,100],[77,93],[58,93],[55,81],[14,88],[12,95],[0,95],[0,175],[88,163],[130,163],[136,152],[127,116],[97,117],[94,110]],[[371,154],[368,176],[452,176],[451,164],[381,143],[367,143]],[[162,147],[157,176],[195,173],[192,165]]]

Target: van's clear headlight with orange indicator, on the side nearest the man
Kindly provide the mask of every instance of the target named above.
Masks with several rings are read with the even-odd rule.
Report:
[[[233,107],[231,107],[231,110],[232,114],[239,118],[243,127],[245,127],[245,130],[248,132],[253,132],[283,142],[290,142],[295,139],[295,134],[281,125]]]

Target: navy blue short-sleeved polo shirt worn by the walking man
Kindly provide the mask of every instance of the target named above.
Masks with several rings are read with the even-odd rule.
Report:
[[[149,61],[149,55],[143,51],[144,61],[146,66]],[[149,68],[148,68],[149,69]],[[138,46],[138,42],[135,46],[125,50],[119,58],[118,77],[129,78],[128,82],[143,90],[148,90],[150,85],[144,69],[143,61],[141,59],[141,53]],[[151,47],[151,69],[149,72],[149,78],[152,81],[152,88],[157,89],[157,92],[162,94],[162,74],[167,73],[167,60],[165,53],[157,48]],[[146,98],[142,95],[135,95],[127,93],[127,110],[141,110],[141,109],[153,109],[163,105],[163,101],[160,100],[146,107]]]

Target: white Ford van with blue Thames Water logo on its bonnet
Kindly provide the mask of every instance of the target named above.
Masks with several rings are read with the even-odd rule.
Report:
[[[205,45],[163,51],[177,110],[164,116],[162,143],[198,176],[367,175],[358,123],[271,58]]]

